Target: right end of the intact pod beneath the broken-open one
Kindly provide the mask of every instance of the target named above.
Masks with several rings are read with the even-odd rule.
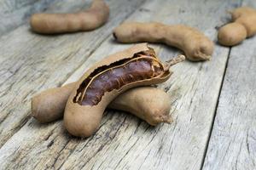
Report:
[[[152,126],[172,122],[171,99],[163,90],[153,87],[131,88],[114,99],[109,108],[131,112]]]

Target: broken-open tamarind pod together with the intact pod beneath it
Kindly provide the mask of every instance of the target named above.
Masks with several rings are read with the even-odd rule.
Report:
[[[78,82],[33,97],[32,116],[39,122],[52,122],[64,112],[64,126],[79,137],[96,132],[107,106],[129,111],[153,126],[172,122],[168,94],[145,86],[166,82],[172,75],[170,67],[183,59],[178,55],[162,63],[153,48],[137,44],[102,59]]]

